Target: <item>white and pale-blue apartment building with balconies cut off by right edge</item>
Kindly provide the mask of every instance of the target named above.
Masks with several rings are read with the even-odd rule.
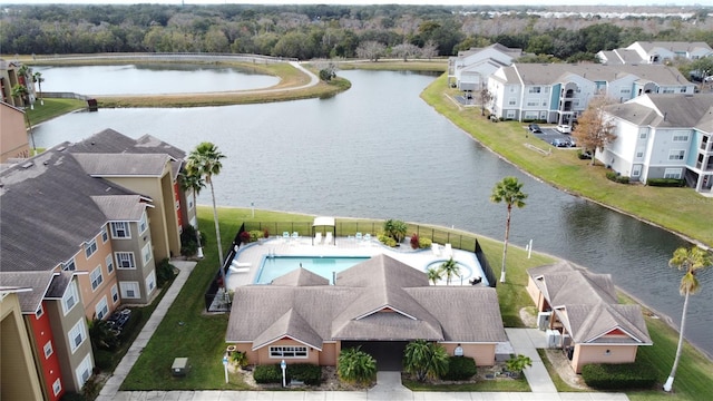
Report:
[[[596,158],[634,182],[683,178],[713,186],[713,95],[645,95],[607,109],[617,138]]]

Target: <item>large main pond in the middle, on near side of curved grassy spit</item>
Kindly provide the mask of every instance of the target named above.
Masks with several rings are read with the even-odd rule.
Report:
[[[203,72],[196,72],[197,75]],[[150,134],[189,151],[199,141],[227,158],[214,178],[219,205],[315,215],[397,218],[460,228],[501,241],[506,207],[489,200],[506,176],[525,183],[510,242],[567,258],[651,307],[680,320],[681,273],[667,266],[680,237],[534,179],[480,146],[426,105],[433,77],[341,71],[353,86],[329,99],[264,105],[100,109],[46,123],[40,147],[76,141],[105,128]],[[209,192],[199,203],[209,204]],[[673,211],[672,211],[673,213]],[[686,338],[713,353],[713,274],[700,274]]]

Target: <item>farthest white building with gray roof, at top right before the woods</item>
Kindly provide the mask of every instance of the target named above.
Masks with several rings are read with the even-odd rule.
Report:
[[[697,60],[713,56],[709,43],[680,41],[636,41],[625,48],[597,52],[599,62],[617,65],[662,65],[676,58]]]

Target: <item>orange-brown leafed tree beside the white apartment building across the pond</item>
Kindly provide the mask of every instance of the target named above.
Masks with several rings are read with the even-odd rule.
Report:
[[[614,100],[605,95],[599,95],[589,101],[587,109],[577,119],[577,128],[572,136],[577,144],[586,150],[592,150],[592,165],[594,154],[602,150],[607,144],[616,139],[614,133],[616,126],[606,117],[606,107],[614,105]]]

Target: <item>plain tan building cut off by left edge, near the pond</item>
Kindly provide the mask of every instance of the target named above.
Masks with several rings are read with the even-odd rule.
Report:
[[[30,157],[25,111],[0,101],[0,163]]]

